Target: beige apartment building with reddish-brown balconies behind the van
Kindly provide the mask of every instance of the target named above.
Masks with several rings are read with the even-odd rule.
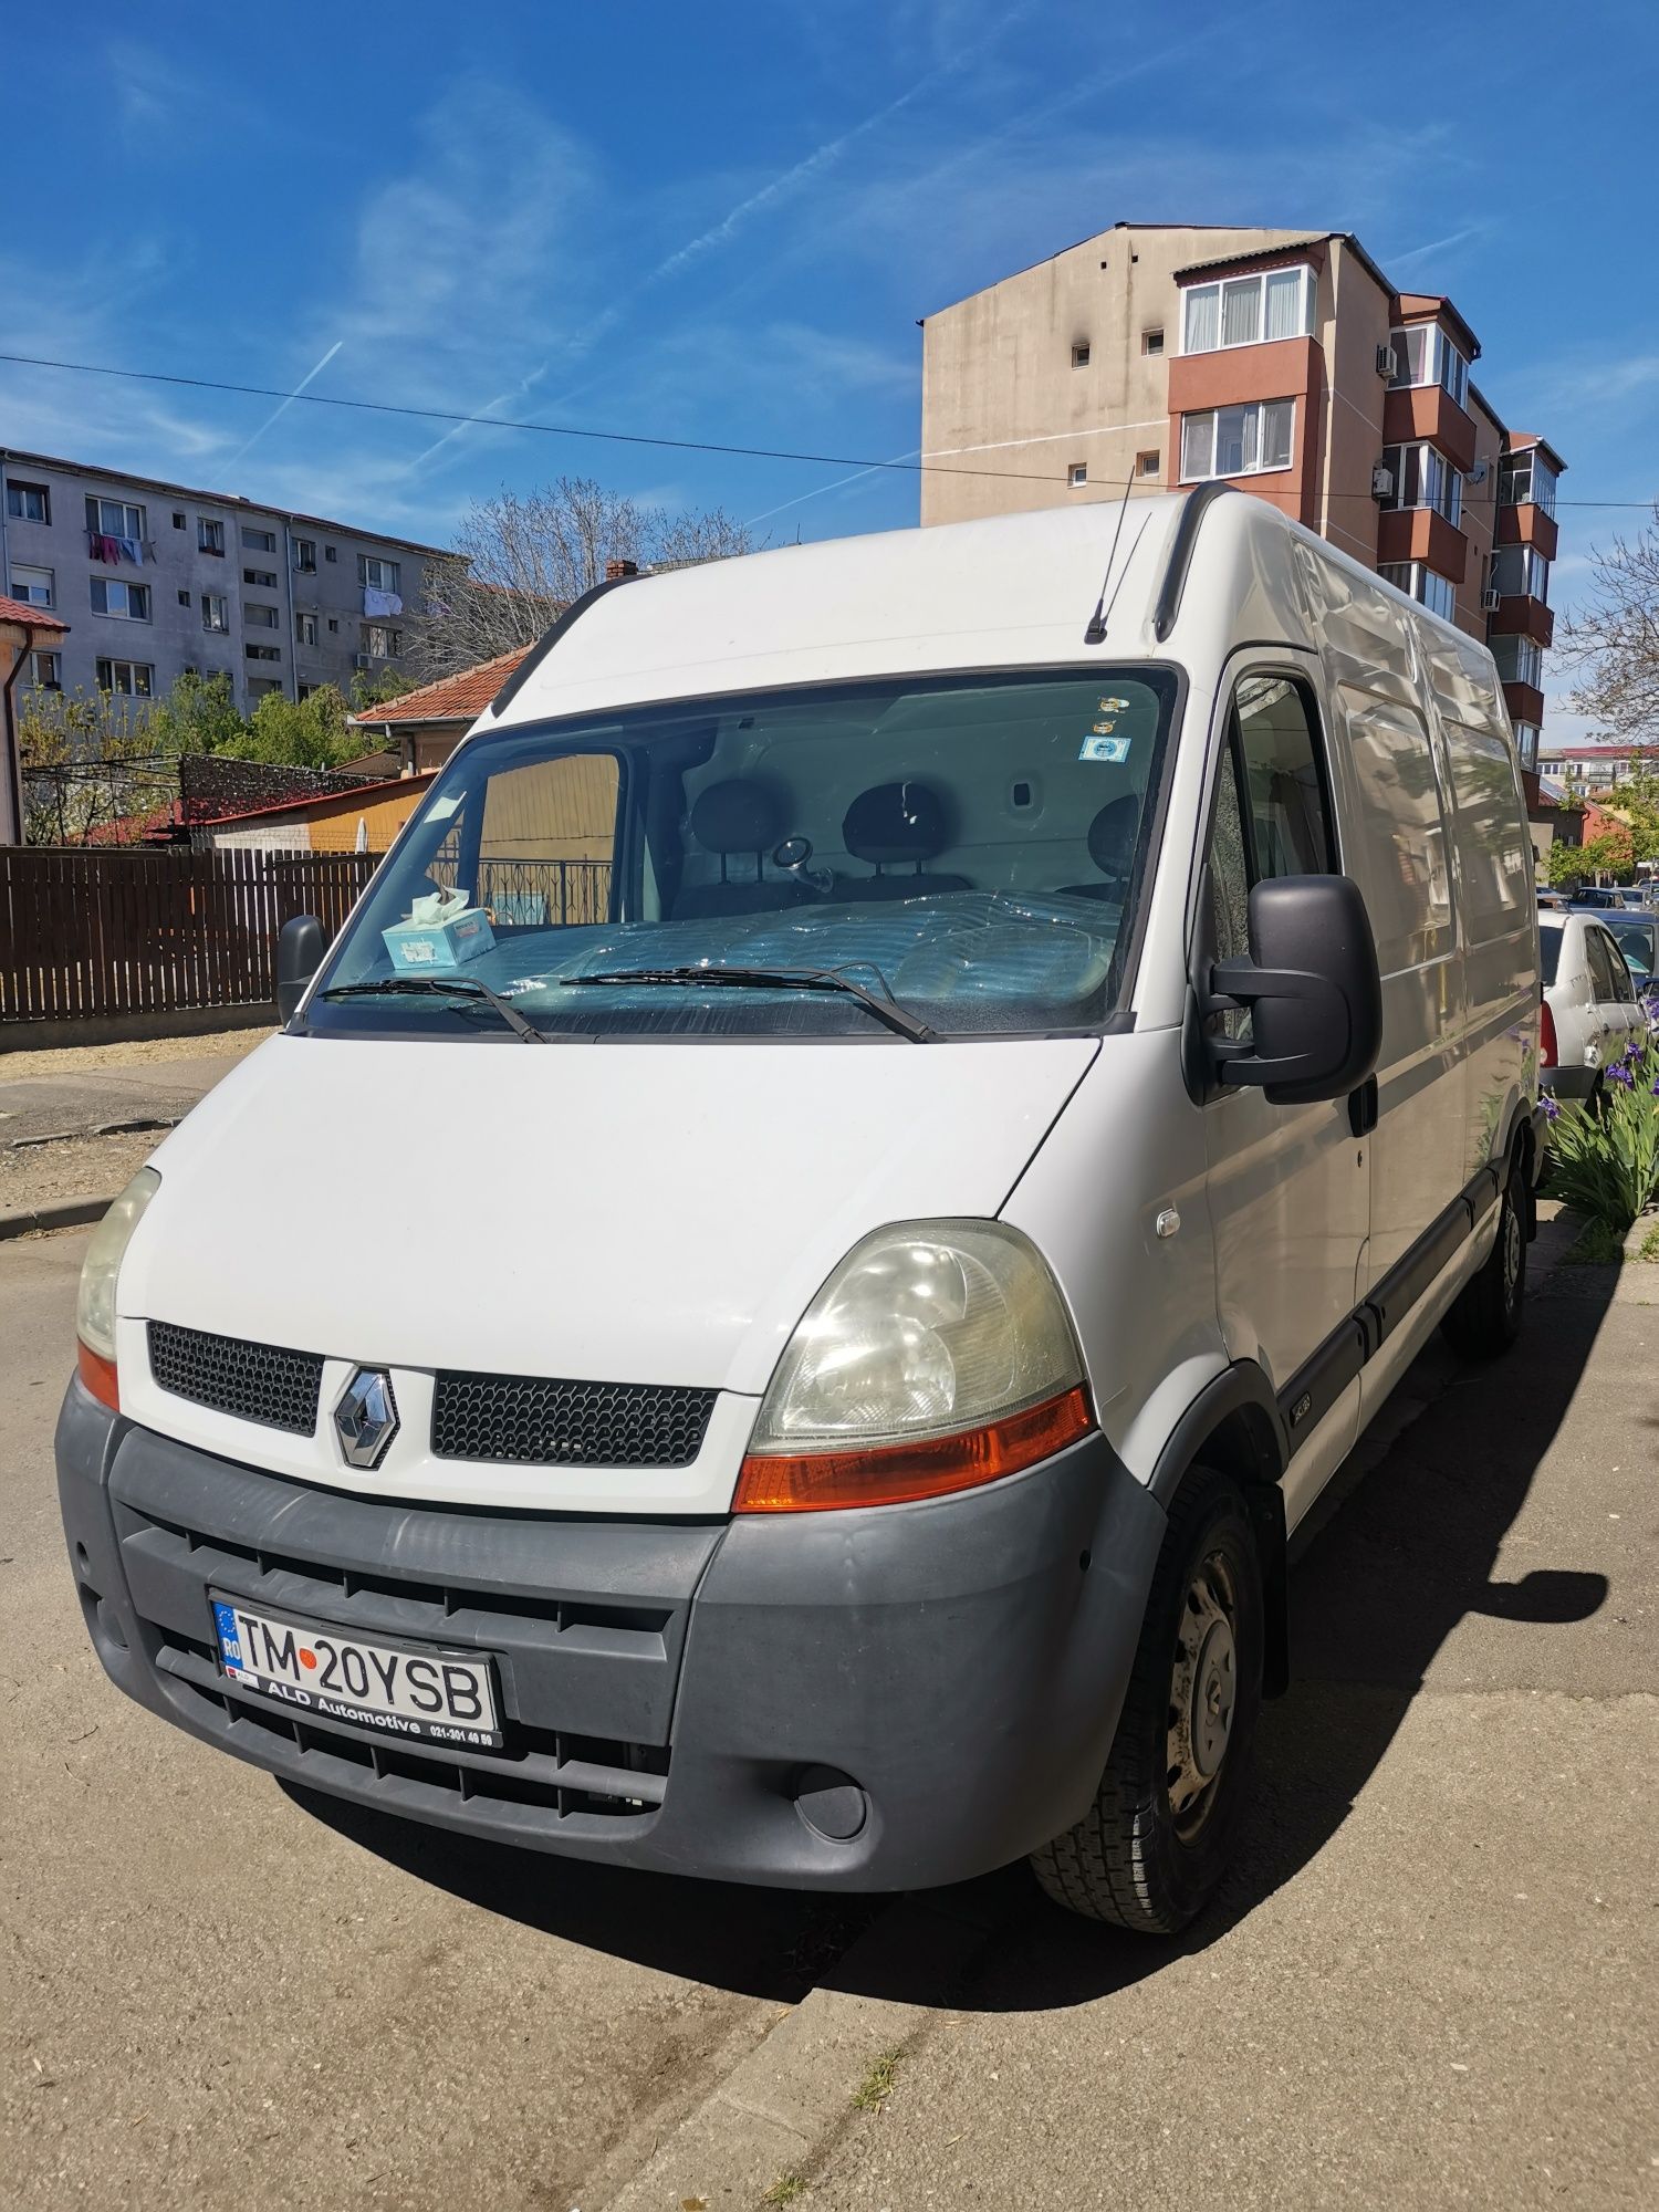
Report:
[[[922,522],[1225,480],[1491,644],[1537,790],[1555,484],[1352,232],[1115,223],[922,319]]]

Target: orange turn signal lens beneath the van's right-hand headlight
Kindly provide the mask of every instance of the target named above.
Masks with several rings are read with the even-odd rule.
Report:
[[[836,1506],[896,1506],[947,1498],[1053,1458],[1095,1418],[1084,1389],[1062,1391],[962,1436],[929,1436],[874,1451],[750,1453],[737,1478],[734,1513],[827,1513]]]

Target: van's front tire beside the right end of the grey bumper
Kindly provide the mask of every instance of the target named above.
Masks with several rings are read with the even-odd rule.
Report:
[[[1208,1599],[1199,1601],[1203,1582]],[[1228,1619],[1232,1708],[1230,1725],[1217,1730],[1210,1705],[1199,1739],[1194,1708],[1206,1703],[1221,1657],[1210,1601]],[[1261,1559],[1239,1486],[1194,1467],[1170,1509],[1095,1803],[1077,1827],[1031,1854],[1055,1905],[1141,1936],[1175,1936],[1203,1909],[1225,1871],[1248,1794],[1263,1619]]]

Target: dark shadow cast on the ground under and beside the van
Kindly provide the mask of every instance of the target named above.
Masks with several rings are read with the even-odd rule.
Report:
[[[925,1966],[847,1958],[880,1898],[739,1889],[630,1874],[476,1843],[325,1798],[316,1818],[418,1880],[566,1942],[750,1995],[799,2000],[834,1982],[916,2004],[1042,2011],[1088,2004],[1203,1951],[1270,1898],[1347,1818],[1447,1637],[1469,1615],[1540,1632],[1588,1619],[1608,1582],[1588,1562],[1493,1577],[1500,1546],[1557,1436],[1610,1301],[1601,1270],[1575,1296],[1533,1301],[1520,1345],[1484,1369],[1429,1347],[1400,1383],[1425,1411],[1321,1528],[1292,1571],[1290,1692],[1263,1710],[1256,1790],[1217,1902],[1175,1944],[1093,1929],[1051,1907],[1022,1867],[947,1893],[998,1927],[998,1969],[978,1991]],[[1385,1409],[1380,1420],[1387,1422]]]

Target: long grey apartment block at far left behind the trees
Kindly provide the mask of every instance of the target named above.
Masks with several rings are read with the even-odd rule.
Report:
[[[24,684],[161,697],[186,668],[265,692],[398,668],[438,546],[150,476],[0,449],[0,591],[69,635]]]

